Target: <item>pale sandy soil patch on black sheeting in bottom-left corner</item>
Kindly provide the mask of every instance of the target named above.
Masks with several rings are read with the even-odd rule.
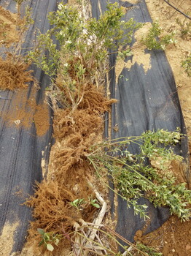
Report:
[[[6,222],[4,225],[3,232],[0,236],[0,255],[8,256],[12,252],[14,246],[14,234],[19,226],[19,222],[10,224]]]

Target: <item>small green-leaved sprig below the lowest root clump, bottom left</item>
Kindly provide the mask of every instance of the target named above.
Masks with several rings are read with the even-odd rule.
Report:
[[[39,246],[46,246],[47,250],[50,252],[54,250],[53,245],[58,246],[59,242],[63,238],[62,235],[54,234],[53,232],[46,233],[42,228],[38,228],[37,231],[42,236],[42,241],[39,242]]]

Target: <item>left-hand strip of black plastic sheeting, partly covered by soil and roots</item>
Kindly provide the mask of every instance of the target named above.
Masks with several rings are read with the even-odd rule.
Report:
[[[15,1],[0,1],[2,7],[15,12]],[[57,0],[31,0],[25,1],[32,8],[34,24],[28,29],[26,39],[23,44],[23,51],[33,46],[35,38],[34,31],[39,29],[41,32],[50,29],[47,14],[56,10]],[[24,12],[24,5],[22,10]],[[50,84],[47,75],[42,70],[31,66],[34,70],[34,77],[39,81],[40,89],[37,91],[36,104],[41,104],[44,99],[44,90]],[[30,99],[33,91],[33,83],[28,86],[26,93],[17,91],[1,91],[1,97],[9,100],[0,99],[0,110],[6,114],[8,110],[14,110],[15,98],[26,97]],[[20,96],[19,96],[20,94]],[[29,129],[25,127],[9,127],[0,116],[0,232],[4,225],[18,223],[15,230],[14,244],[12,252],[22,249],[26,238],[28,221],[31,219],[31,209],[21,204],[25,197],[34,192],[35,181],[42,180],[42,151],[44,159],[47,160],[50,153],[52,142],[52,111],[50,110],[50,129],[43,136],[36,135],[35,124],[31,124]],[[20,195],[17,195],[20,192]],[[23,195],[23,196],[21,196]],[[0,234],[1,234],[0,233]],[[6,245],[5,245],[6,246]]]

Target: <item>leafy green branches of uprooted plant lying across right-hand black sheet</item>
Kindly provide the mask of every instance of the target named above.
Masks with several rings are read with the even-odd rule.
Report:
[[[137,200],[146,197],[157,206],[168,206],[171,214],[182,220],[189,219],[191,191],[186,184],[177,184],[176,177],[166,167],[166,163],[182,157],[174,154],[170,145],[179,143],[179,132],[163,129],[157,132],[144,132],[141,136],[106,141],[91,148],[87,155],[98,176],[106,176],[108,170],[117,189],[117,194],[133,207],[135,214],[147,217],[147,206]],[[139,146],[139,154],[132,154],[128,147]],[[166,148],[168,146],[168,148]],[[149,159],[149,162],[148,162]],[[159,162],[159,167],[151,161]]]

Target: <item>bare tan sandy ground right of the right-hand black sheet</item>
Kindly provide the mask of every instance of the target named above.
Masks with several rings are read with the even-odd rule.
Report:
[[[152,20],[158,20],[158,23],[164,29],[163,34],[176,31],[174,37],[176,38],[177,42],[174,45],[169,45],[165,49],[165,54],[174,73],[182,113],[187,127],[187,133],[188,135],[191,135],[191,98],[188,97],[191,90],[190,77],[187,76],[187,73],[184,72],[184,68],[182,67],[182,61],[191,50],[191,34],[189,32],[183,38],[181,37],[182,29],[178,23],[176,23],[176,18],[181,20],[182,23],[185,20],[188,23],[190,20],[185,18],[184,15],[180,14],[179,12],[176,12],[176,10],[162,0],[146,0],[146,3]],[[190,0],[173,0],[171,1],[171,4],[185,14],[191,12]]]

